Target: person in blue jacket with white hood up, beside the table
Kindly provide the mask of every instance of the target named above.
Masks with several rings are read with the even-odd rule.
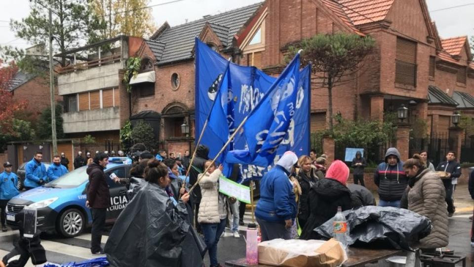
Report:
[[[297,161],[295,153],[285,152],[260,181],[260,200],[255,217],[260,225],[262,241],[292,238],[290,228],[298,209],[293,184],[288,177]]]

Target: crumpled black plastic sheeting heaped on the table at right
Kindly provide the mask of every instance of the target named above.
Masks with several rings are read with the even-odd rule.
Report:
[[[365,206],[344,211],[343,215],[350,229],[349,245],[377,243],[410,250],[410,244],[430,234],[432,227],[428,218],[393,207]],[[333,237],[333,218],[314,230],[322,237]]]

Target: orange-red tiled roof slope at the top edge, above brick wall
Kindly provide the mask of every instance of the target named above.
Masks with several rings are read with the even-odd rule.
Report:
[[[384,20],[394,1],[338,0],[355,26]]]

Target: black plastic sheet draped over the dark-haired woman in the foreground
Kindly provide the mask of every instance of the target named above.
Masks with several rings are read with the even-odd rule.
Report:
[[[116,267],[202,266],[199,239],[187,220],[184,203],[175,207],[158,184],[141,189],[120,213],[105,246]],[[204,245],[205,246],[205,245]]]

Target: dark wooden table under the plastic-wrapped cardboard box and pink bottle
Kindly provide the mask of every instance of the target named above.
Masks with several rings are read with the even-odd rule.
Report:
[[[347,252],[348,260],[342,265],[343,267],[363,267],[364,265],[379,260],[387,259],[403,253],[401,250],[394,249],[363,249],[363,248],[349,248]],[[229,267],[270,267],[269,265],[247,265],[245,258],[227,261],[226,266]]]

